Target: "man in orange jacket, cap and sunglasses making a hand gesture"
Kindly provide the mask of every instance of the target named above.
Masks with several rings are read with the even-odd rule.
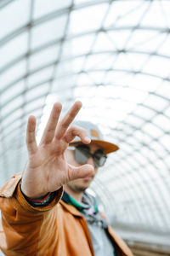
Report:
[[[71,125],[81,107],[75,102],[59,121],[61,104],[55,103],[38,146],[36,119],[28,119],[26,170],[0,191],[0,247],[5,255],[133,255],[84,192],[105,163],[105,154],[118,148],[101,140],[90,123],[84,123],[89,135]]]

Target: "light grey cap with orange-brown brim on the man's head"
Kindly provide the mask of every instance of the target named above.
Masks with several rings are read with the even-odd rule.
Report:
[[[101,131],[99,131],[99,128],[97,127],[97,125],[94,125],[93,123],[88,121],[80,121],[80,120],[74,121],[72,125],[80,126],[84,128],[86,131],[88,131],[88,136],[91,138],[91,143],[95,143],[101,146],[102,148],[104,148],[105,154],[115,152],[116,150],[119,149],[119,147],[116,146],[116,144],[106,142],[103,139],[103,135]],[[72,145],[74,143],[79,143],[79,142],[81,143],[81,139],[79,137],[75,137],[70,144]]]

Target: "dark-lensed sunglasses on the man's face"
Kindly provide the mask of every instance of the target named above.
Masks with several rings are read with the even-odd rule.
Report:
[[[90,157],[94,160],[94,166],[101,167],[105,165],[107,156],[102,149],[98,149],[94,154],[90,153],[90,148],[87,145],[78,145],[76,147],[69,146],[68,149],[74,150],[74,158],[79,164],[86,164]]]

